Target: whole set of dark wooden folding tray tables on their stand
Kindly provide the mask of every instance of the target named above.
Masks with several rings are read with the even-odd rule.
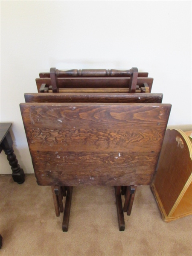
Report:
[[[114,186],[119,230],[138,185],[151,184],[170,104],[148,73],[51,68],[20,104],[38,185],[51,186],[68,230],[73,186]],[[121,195],[125,195],[122,206]],[[66,196],[63,207],[63,196]]]

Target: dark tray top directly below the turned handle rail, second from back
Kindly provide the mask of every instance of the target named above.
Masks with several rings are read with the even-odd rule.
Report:
[[[37,84],[38,92],[40,92],[41,84],[47,84],[51,86],[50,78],[37,78],[35,79]],[[70,78],[58,78],[59,88],[129,88],[130,77],[70,77]],[[149,92],[151,93],[151,88],[153,84],[153,78],[148,77],[138,77],[137,85],[143,86],[143,84],[148,84]]]

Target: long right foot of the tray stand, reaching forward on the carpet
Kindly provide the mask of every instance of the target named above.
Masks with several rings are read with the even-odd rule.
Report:
[[[122,208],[122,199],[121,199],[121,186],[115,186],[115,198],[116,198],[116,209],[117,209],[117,218],[119,223],[119,231],[125,230],[125,219]]]

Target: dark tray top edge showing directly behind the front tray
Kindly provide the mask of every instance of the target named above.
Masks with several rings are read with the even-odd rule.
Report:
[[[25,93],[25,102],[161,103],[162,93]]]

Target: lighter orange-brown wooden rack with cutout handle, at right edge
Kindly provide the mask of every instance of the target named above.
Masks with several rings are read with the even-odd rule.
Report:
[[[192,214],[192,131],[167,130],[151,184],[166,222]]]

